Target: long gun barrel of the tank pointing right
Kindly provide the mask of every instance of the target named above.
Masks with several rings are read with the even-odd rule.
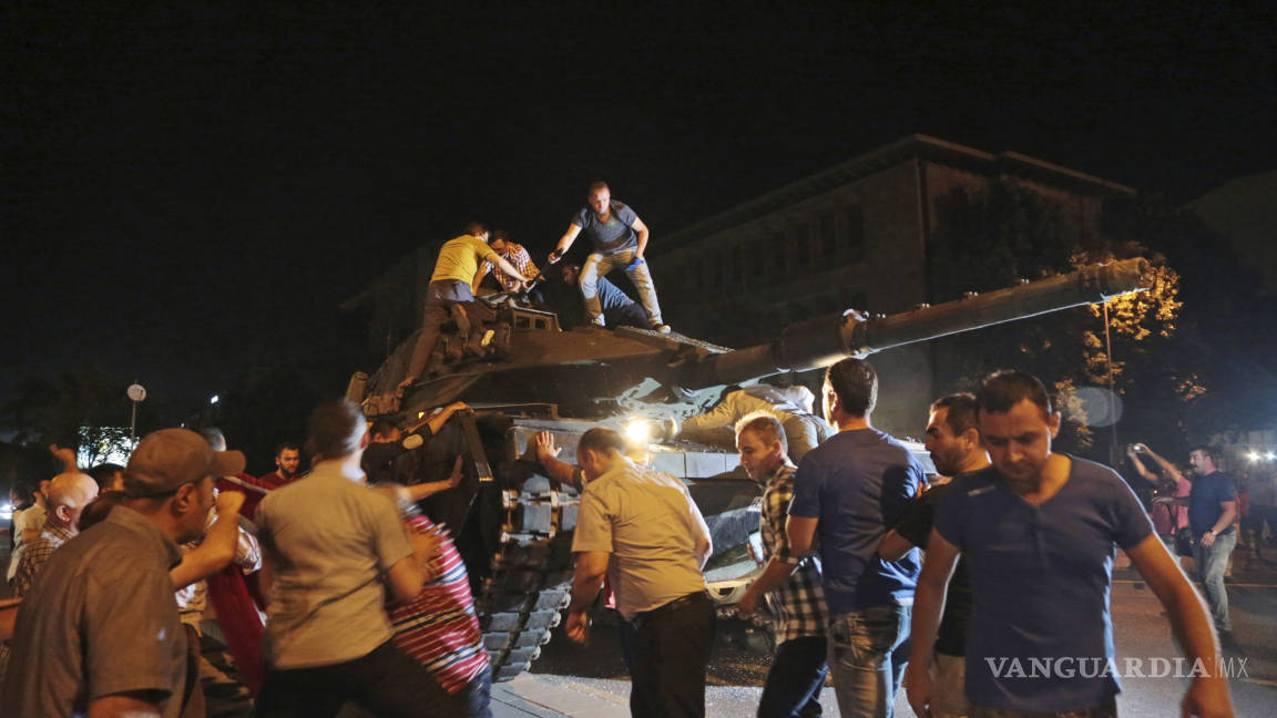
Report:
[[[854,309],[824,314],[785,327],[767,344],[706,356],[679,382],[688,388],[737,383],[783,372],[827,367],[847,356],[1000,325],[1121,294],[1143,291],[1148,261],[1122,259],[968,296],[935,307],[866,318]]]

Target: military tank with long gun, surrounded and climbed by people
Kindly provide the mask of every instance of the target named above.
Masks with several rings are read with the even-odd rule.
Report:
[[[425,510],[456,538],[493,678],[506,681],[527,669],[549,641],[572,576],[578,494],[524,456],[536,432],[552,432],[559,459],[572,461],[586,429],[626,431],[654,468],[684,480],[710,526],[714,556],[706,577],[725,615],[752,569],[746,546],[757,530],[762,487],[737,471],[730,450],[674,441],[679,419],[706,410],[729,385],[1138,291],[1145,270],[1144,259],[1125,259],[900,314],[845,309],[746,349],[637,328],[562,331],[553,313],[493,295],[460,316],[453,312],[427,372],[397,406],[384,397],[405,373],[415,335],[370,377],[356,373],[347,397],[361,401],[370,418],[400,425],[453,401],[470,405],[416,450],[423,455],[415,457],[412,479],[438,480],[451,469],[451,456],[466,456],[461,485],[428,500]]]

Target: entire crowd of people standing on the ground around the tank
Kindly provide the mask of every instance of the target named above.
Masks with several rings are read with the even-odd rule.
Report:
[[[891,715],[902,684],[918,715],[1115,715],[1117,673],[1078,669],[1115,661],[1115,547],[1161,600],[1190,664],[1204,667],[1190,676],[1185,714],[1232,714],[1218,636],[1231,630],[1222,574],[1237,497],[1209,447],[1190,454],[1191,482],[1131,447],[1147,478],[1167,483],[1151,516],[1114,470],[1052,450],[1060,414],[1032,376],[997,372],[931,405],[926,448],[939,478],[873,427],[877,388],[870,363],[845,359],[825,374],[824,420],[810,415],[810,396],[775,387],[725,392],[730,418],[711,416],[732,427],[741,465],[764,487],[762,570],[738,606],[743,617],[766,606],[775,621],[759,715],[819,715],[827,677],[843,715]],[[351,704],[489,715],[466,567],[439,520],[455,507],[429,503],[461,493],[464,450],[450,432],[465,409],[401,427],[323,404],[305,445],[281,443],[263,477],[245,474],[216,429],[155,432],[126,466],[91,473],[55,447],[64,470],[14,521],[19,607],[0,705],[15,715],[203,715],[200,646],[213,631],[258,715],[336,715]],[[446,478],[420,480],[423,446],[451,464]],[[548,432],[531,442],[545,473],[581,494],[566,634],[586,641],[607,600],[624,618],[632,713],[704,715],[710,530],[687,485],[630,448],[603,427],[585,432],[573,462]],[[1205,602],[1172,556],[1183,529]],[[1009,661],[1061,668],[1025,676],[1002,669]]]

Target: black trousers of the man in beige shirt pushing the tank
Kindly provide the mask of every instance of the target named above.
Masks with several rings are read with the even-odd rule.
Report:
[[[705,715],[705,668],[714,645],[714,604],[705,594],[640,621],[633,638],[635,718]]]

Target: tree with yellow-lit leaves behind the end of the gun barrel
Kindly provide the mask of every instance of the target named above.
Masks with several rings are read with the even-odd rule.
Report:
[[[994,180],[985,195],[954,192],[937,210],[931,261],[936,302],[1093,262],[1149,258],[1149,290],[1108,303],[1114,390],[1126,409],[1124,432],[1140,441],[1183,442],[1181,418],[1204,392],[1203,355],[1179,322],[1180,275],[1140,241],[1147,233],[1119,235],[1115,230],[1124,227],[1103,218],[1079,222],[1075,210],[1014,179]],[[1102,307],[948,337],[935,351],[940,392],[969,390],[999,368],[1022,369],[1047,382],[1065,414],[1061,448],[1101,459],[1116,448],[1110,432],[1092,427],[1083,391],[1107,391],[1110,383]]]

